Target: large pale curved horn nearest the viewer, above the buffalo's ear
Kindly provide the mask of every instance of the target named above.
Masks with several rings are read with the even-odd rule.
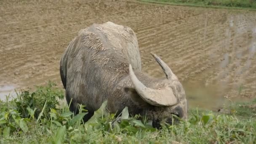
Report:
[[[172,106],[177,103],[177,99],[171,88],[163,89],[152,89],[141,83],[133,72],[131,64],[129,65],[129,72],[131,76],[131,81],[134,87],[139,93],[139,96],[147,103],[154,106]]]

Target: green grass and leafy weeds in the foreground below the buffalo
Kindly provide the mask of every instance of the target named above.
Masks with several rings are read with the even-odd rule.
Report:
[[[256,142],[256,100],[232,104],[226,113],[189,109],[189,119],[165,125],[158,131],[148,123],[128,117],[117,120],[104,110],[106,102],[87,123],[86,111],[74,116],[68,105],[59,106],[64,91],[49,83],[35,91],[21,91],[17,99],[0,101],[0,143],[245,143]],[[82,122],[82,123],[81,123]]]

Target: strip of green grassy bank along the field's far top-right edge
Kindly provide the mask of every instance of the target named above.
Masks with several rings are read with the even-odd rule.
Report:
[[[211,8],[256,10],[256,0],[139,0],[142,2]]]

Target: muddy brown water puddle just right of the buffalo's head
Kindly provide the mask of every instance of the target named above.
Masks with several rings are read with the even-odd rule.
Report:
[[[217,111],[224,107],[224,105],[231,104],[234,101],[245,102],[249,99],[240,97],[229,97],[226,95],[229,87],[224,87],[224,84],[219,85],[204,85],[203,82],[187,81],[183,83],[184,90],[186,92],[187,100],[189,101],[189,107],[200,109],[211,109]],[[239,91],[237,91],[239,93]]]

